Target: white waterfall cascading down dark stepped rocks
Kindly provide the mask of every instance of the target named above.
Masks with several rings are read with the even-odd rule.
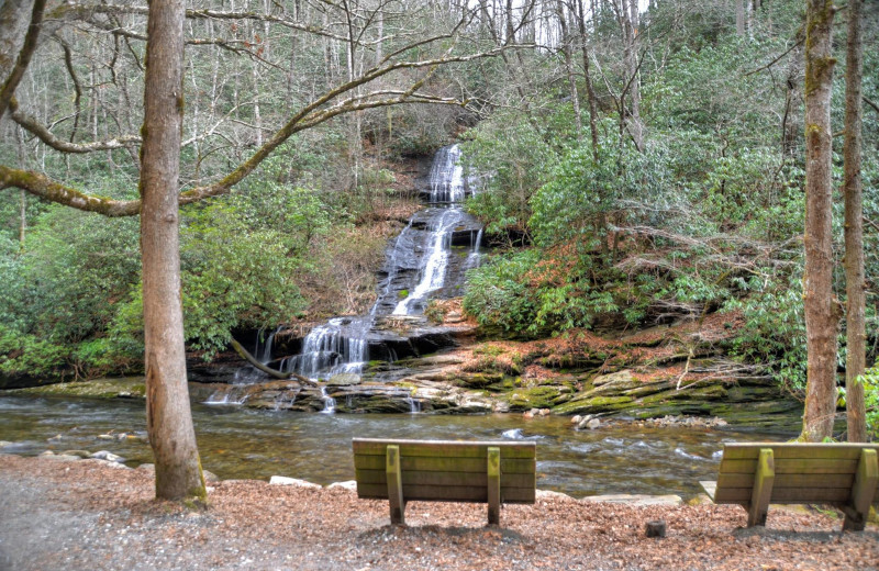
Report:
[[[369,360],[370,333],[380,317],[423,313],[431,296],[441,295],[449,283],[459,288],[466,270],[478,266],[482,229],[461,206],[468,184],[459,157],[457,145],[436,153],[423,192],[430,205],[416,212],[389,245],[379,295],[369,314],[335,317],[314,327],[303,339],[302,352],[281,361],[282,371],[319,380],[360,372]],[[448,295],[458,293],[449,290]],[[271,358],[274,336],[269,335],[265,347],[257,347],[255,355],[263,362]],[[391,347],[383,358],[394,358]],[[330,401],[329,396],[324,401],[325,412],[334,410]]]

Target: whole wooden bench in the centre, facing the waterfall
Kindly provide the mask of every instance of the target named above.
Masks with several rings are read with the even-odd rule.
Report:
[[[382,440],[355,438],[357,496],[388,500],[391,524],[403,524],[405,503],[488,503],[489,525],[501,504],[533,504],[534,443]]]

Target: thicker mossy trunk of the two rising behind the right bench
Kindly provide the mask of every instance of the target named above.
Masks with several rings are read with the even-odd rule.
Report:
[[[833,434],[836,410],[836,324],[833,295],[831,197],[831,88],[836,60],[832,0],[809,0],[805,37],[805,275],[803,305],[809,350],[803,432],[805,441]]]

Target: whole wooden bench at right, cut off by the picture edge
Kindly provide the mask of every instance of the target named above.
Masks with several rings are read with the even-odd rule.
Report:
[[[879,444],[727,444],[716,482],[700,482],[717,504],[741,504],[748,527],[766,525],[769,504],[831,504],[843,529],[860,531],[879,502]]]

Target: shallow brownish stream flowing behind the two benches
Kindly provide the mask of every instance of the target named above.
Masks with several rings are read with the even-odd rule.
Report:
[[[575,432],[565,417],[519,415],[326,415],[194,404],[202,464],[222,479],[289,475],[327,484],[354,478],[352,437],[534,439],[537,486],[575,496],[603,493],[698,493],[716,475],[723,443],[783,440],[791,435],[620,425]],[[144,405],[0,396],[5,451],[110,450],[136,466],[152,461],[136,439],[101,440],[109,433],[144,433]],[[60,435],[60,438],[56,437]],[[52,440],[49,440],[52,439]]]

